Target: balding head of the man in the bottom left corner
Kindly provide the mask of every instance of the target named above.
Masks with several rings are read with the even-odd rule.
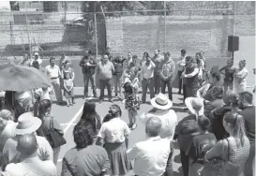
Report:
[[[34,134],[25,134],[19,137],[17,151],[22,154],[34,154],[38,149],[38,142]]]

